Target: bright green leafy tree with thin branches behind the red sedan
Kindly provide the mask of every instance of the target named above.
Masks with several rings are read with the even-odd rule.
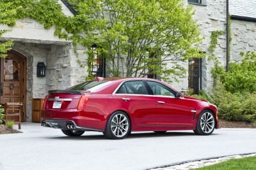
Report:
[[[79,43],[97,45],[112,76],[183,75],[178,62],[202,57],[200,29],[191,6],[181,0],[76,0],[83,18]],[[81,24],[79,24],[81,27]],[[88,50],[88,72],[95,57]],[[168,65],[168,66],[167,66]]]

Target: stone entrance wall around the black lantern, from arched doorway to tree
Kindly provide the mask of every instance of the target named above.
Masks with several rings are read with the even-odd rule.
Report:
[[[85,80],[86,69],[77,63],[74,47],[70,45],[15,42],[13,50],[27,57],[27,122],[32,118],[33,99],[44,99],[48,90],[66,89]],[[86,62],[84,48],[77,50],[78,57]],[[46,76],[36,76],[38,62],[44,62]]]

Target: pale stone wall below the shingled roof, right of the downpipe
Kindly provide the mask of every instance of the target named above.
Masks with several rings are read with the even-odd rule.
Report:
[[[239,62],[240,52],[256,52],[256,23],[231,20],[232,43],[230,62]]]

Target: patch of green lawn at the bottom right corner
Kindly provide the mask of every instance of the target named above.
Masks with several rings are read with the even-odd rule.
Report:
[[[220,164],[214,164],[212,166],[206,166],[198,169],[207,169],[207,170],[245,170],[245,169],[256,169],[256,156],[255,157],[246,157],[243,159],[230,159]],[[197,170],[198,170],[197,169]]]

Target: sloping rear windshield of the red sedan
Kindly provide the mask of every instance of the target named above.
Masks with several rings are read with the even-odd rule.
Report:
[[[85,81],[84,83],[81,83],[79,85],[75,85],[74,87],[71,87],[68,90],[89,90],[89,89],[95,89],[97,87],[102,87],[104,83],[106,84],[108,81]]]

